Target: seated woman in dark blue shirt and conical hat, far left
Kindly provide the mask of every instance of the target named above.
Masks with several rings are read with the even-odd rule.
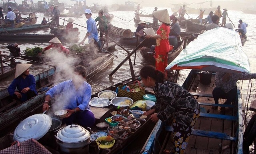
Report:
[[[31,65],[17,64],[15,78],[7,89],[10,96],[21,102],[25,102],[38,94],[36,92],[36,80],[33,75],[29,74],[28,68]]]

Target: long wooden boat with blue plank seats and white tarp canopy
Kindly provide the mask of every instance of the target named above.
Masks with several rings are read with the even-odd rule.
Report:
[[[227,33],[232,35],[227,35]],[[215,35],[212,36],[212,34]],[[215,41],[212,42],[212,39],[205,39],[209,37],[214,37]],[[239,37],[234,31],[221,27],[210,32],[207,31],[198,36],[194,42],[191,42],[166,67],[166,69],[196,69],[190,71],[182,85],[200,104],[200,116],[192,129],[184,154],[243,154],[243,129],[246,117],[242,90],[240,88],[241,82],[238,81],[236,84],[237,95],[232,104],[224,104],[226,98],[219,99],[219,104],[215,104],[212,96],[212,91],[216,86],[216,71],[250,73],[249,60],[245,52],[242,51]],[[194,46],[201,42],[207,45],[201,46],[200,49],[196,50]],[[219,53],[221,49],[219,49],[219,45],[214,46],[214,44],[222,44],[222,46],[226,46],[227,48],[222,49],[222,55],[218,55],[216,53]],[[212,46],[212,48],[209,50],[208,46]],[[231,57],[243,58],[232,59]],[[230,61],[231,59],[232,61]],[[240,63],[244,61],[246,63],[241,66]],[[227,62],[231,62],[232,64],[227,64]],[[212,71],[212,74],[203,75],[199,72],[202,70]],[[212,106],[214,108],[220,107],[220,110],[214,110]],[[152,153],[153,149],[156,150],[156,153],[162,153],[163,151],[168,152],[173,148],[171,146],[172,142],[170,141],[172,139],[171,127],[164,125],[164,122],[161,120],[157,122],[146,144],[142,148],[143,154]],[[158,140],[160,138],[161,140]],[[159,145],[162,147],[158,148],[154,144],[158,143],[157,140],[160,141]]]

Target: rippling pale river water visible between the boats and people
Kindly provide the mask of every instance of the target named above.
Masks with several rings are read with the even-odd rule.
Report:
[[[166,8],[158,8],[158,10],[161,10],[161,9],[166,9]],[[172,14],[171,9],[170,8],[167,8],[167,9],[168,9],[169,14]],[[153,7],[152,8],[145,7],[145,8],[142,8],[142,10],[144,10],[144,12],[146,12],[146,13],[151,14],[152,11],[154,10],[154,8]],[[67,12],[68,11],[66,11],[66,10],[64,11],[64,13],[67,13]],[[111,21],[111,23],[114,26],[124,28],[124,29],[130,29],[130,30],[132,30],[132,32],[135,32],[136,25],[133,22],[133,17],[134,17],[133,11],[114,11],[114,12],[109,12],[109,13],[112,13],[112,14],[114,14],[114,16],[116,16]],[[189,16],[192,18],[197,18],[198,15],[199,15],[199,11],[198,11],[198,14],[189,14]],[[256,15],[255,14],[244,14],[241,11],[232,11],[232,10],[228,10],[228,15],[236,27],[239,24],[238,23],[239,19],[242,19],[244,22],[246,22],[248,24],[248,27],[247,27],[247,37],[248,38],[247,38],[246,42],[244,43],[243,50],[246,52],[246,54],[248,55],[248,58],[250,60],[251,72],[256,73],[256,62],[254,61],[256,58],[256,54],[254,53],[254,48],[256,48],[256,44],[255,44],[256,36],[254,35],[254,34],[256,34],[256,21],[252,20],[252,19],[256,18]],[[42,21],[42,18],[44,17],[44,14],[37,13],[36,16],[38,16],[37,24],[40,24]],[[98,13],[92,14],[92,17],[96,17],[96,16],[98,16]],[[119,18],[117,18],[117,17],[119,17]],[[206,18],[206,17],[207,17],[207,15],[204,15],[204,18]],[[48,20],[48,18],[50,19],[51,17],[46,17],[46,20]],[[123,20],[120,18],[122,18]],[[188,18],[188,16],[185,15],[185,18]],[[152,22],[152,18],[149,18],[149,17],[140,17],[140,19],[144,20],[144,21]],[[68,18],[66,18],[66,20],[68,20]],[[75,20],[74,23],[80,24],[82,26],[86,26],[86,18],[84,15],[80,18],[74,18],[74,20]],[[231,22],[231,21],[227,19],[227,23],[228,22]],[[60,19],[60,24],[62,24],[62,23],[63,23],[63,20]],[[64,23],[64,25],[66,25],[66,22]],[[80,42],[84,38],[87,30],[86,30],[86,28],[83,28],[83,27],[80,27],[77,25],[74,25],[74,27],[78,27],[79,31],[81,32],[81,34],[79,35],[79,41],[78,41],[78,42]],[[39,30],[36,32],[28,32],[28,33],[38,33],[38,34],[50,33],[50,29]],[[87,40],[86,40],[86,42],[87,42]],[[13,43],[13,42],[5,42],[5,41],[0,42],[0,50],[2,50],[4,54],[8,54],[8,49],[6,48],[6,46],[10,43]],[[21,51],[26,50],[26,48],[32,48],[35,46],[46,47],[49,45],[48,42],[24,42],[22,40],[17,40],[16,43],[19,44]],[[69,44],[64,43],[64,45],[69,45]],[[126,48],[127,50],[129,50],[131,52],[134,49],[134,46],[124,46],[124,48]],[[116,68],[116,66],[118,66],[118,64],[120,64],[120,62],[122,62],[122,60],[124,60],[124,58],[127,56],[127,53],[124,50],[122,50],[119,46],[116,46],[116,51],[114,51],[114,54],[116,56],[118,56],[118,58],[114,59],[113,64],[108,66],[108,68],[106,68],[104,71],[101,71],[99,74],[97,74],[97,76],[94,76],[93,78],[88,80],[88,82],[92,85],[93,92],[97,92],[98,90],[104,89],[110,85],[116,84],[122,80],[125,80],[125,79],[131,77],[128,61],[125,62],[124,65],[122,65],[113,76],[109,76],[109,74],[112,72],[112,70],[114,70],[114,68]],[[134,55],[132,56],[131,59],[133,62]],[[134,72],[136,75],[138,75],[140,68],[144,65],[145,65],[145,63],[143,62],[142,57],[141,57],[140,53],[138,52],[136,55],[136,64],[133,65]],[[182,83],[184,81],[188,72],[189,72],[189,70],[181,71],[179,83]],[[256,91],[254,88],[255,84],[256,84],[256,80],[252,80],[252,95],[250,97],[250,101],[253,100],[253,96]],[[246,96],[247,96],[247,91],[248,91],[248,82],[247,81],[243,83],[242,89],[244,92],[243,96],[244,96],[244,100],[245,100]],[[248,98],[247,98],[247,100],[248,100]]]

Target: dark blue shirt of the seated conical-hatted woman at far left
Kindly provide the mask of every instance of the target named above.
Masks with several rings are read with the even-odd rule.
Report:
[[[22,102],[25,102],[27,99],[27,95],[23,94],[21,92],[22,89],[24,88],[30,88],[31,91],[34,91],[36,94],[38,94],[36,92],[36,80],[34,78],[33,75],[29,74],[28,76],[26,76],[26,78],[22,78],[22,76],[18,76],[17,78],[15,78],[12,83],[10,84],[10,86],[8,87],[8,92],[10,94],[10,96],[14,95],[14,92],[16,90],[16,88],[18,89],[18,92],[21,94],[22,98],[20,98],[20,100]]]

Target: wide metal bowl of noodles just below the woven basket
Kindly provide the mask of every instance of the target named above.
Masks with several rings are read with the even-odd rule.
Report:
[[[116,97],[111,100],[111,104],[115,108],[118,108],[118,106],[120,106],[126,109],[128,106],[132,106],[133,100],[128,97]]]

